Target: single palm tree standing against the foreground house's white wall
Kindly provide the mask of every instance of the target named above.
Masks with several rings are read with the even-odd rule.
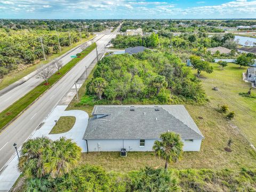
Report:
[[[161,141],[155,141],[153,149],[156,156],[165,160],[164,169],[167,170],[168,163],[176,163],[181,159],[183,142],[180,135],[174,132],[162,133]]]

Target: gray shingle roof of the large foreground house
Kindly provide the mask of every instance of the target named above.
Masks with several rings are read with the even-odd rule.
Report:
[[[159,139],[161,133],[173,131],[182,139],[203,139],[203,134],[183,105],[94,106],[83,139]]]

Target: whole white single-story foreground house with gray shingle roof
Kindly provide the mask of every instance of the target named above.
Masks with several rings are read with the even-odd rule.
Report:
[[[178,133],[184,151],[199,151],[203,134],[183,105],[94,106],[83,139],[87,151],[153,151],[165,132]]]

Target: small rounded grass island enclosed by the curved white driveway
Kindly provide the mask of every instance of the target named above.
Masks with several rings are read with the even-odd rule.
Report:
[[[75,124],[76,117],[73,116],[63,116],[60,117],[57,125],[52,127],[52,130],[49,134],[58,134],[68,132]]]

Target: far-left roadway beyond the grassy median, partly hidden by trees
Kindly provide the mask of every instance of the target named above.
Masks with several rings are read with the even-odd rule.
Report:
[[[106,33],[108,33],[108,31],[106,31]],[[98,33],[98,36],[95,37],[93,41],[97,41],[102,36],[102,33]],[[91,41],[89,41],[88,44],[91,44]],[[76,53],[82,51],[80,49],[80,46],[77,46],[73,51],[69,52],[67,55],[60,59],[63,65],[66,65],[71,60],[71,55],[76,55]],[[34,89],[43,81],[44,80],[41,78],[36,78],[36,71],[34,71],[33,73],[19,80],[18,82],[13,83],[12,85],[6,87],[3,90],[0,90],[0,112],[12,105],[12,103],[20,99],[23,95]]]

